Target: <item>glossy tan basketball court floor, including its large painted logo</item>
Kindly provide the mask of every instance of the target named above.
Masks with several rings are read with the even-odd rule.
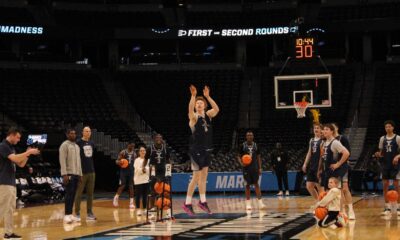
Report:
[[[63,224],[62,204],[19,209],[14,220],[24,239],[398,239],[400,231],[400,219],[379,216],[381,196],[356,196],[357,220],[336,230],[315,225],[313,215],[307,213],[310,197],[269,196],[267,211],[246,212],[243,197],[214,195],[209,198],[214,213],[195,208],[195,217],[183,213],[183,201],[174,201],[176,220],[150,224],[145,216],[129,210],[127,200],[114,208],[112,199],[95,201],[97,221],[86,222],[83,215],[81,223]]]

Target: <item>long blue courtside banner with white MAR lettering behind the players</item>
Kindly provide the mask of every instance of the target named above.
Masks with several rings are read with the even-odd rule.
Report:
[[[297,171],[288,172],[289,190],[294,190]],[[191,173],[173,173],[172,191],[186,192],[192,178]],[[260,176],[262,191],[278,191],[276,175],[271,171],[263,172]],[[245,187],[242,172],[210,172],[207,179],[207,192],[238,192]]]

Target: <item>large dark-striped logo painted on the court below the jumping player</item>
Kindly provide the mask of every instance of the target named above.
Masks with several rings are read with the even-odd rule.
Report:
[[[288,239],[315,224],[311,214],[303,213],[223,213],[175,215],[175,222],[136,224],[81,238],[123,239]]]

